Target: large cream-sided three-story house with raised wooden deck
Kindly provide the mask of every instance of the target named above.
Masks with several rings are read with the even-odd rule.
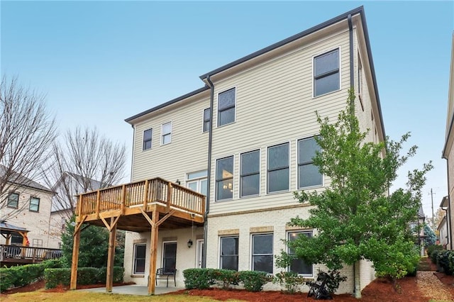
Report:
[[[309,216],[294,191],[330,185],[311,161],[315,111],[336,120],[350,87],[366,140],[385,137],[362,7],[200,79],[200,89],[126,119],[134,131],[132,184],[79,196],[74,247],[84,222],[105,225],[111,238],[127,230],[125,279],[149,293],[155,281],[162,285],[158,268],[177,269],[177,286],[192,267],[280,272],[282,240],[315,232],[287,225]],[[72,288],[76,269],[73,262]],[[299,261],[289,269],[316,278],[326,267]],[[369,262],[356,272],[345,267],[339,293],[353,292],[358,272],[361,289],[375,278]]]

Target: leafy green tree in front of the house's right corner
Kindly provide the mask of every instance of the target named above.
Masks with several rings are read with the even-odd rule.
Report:
[[[397,170],[416,154],[416,146],[400,155],[409,133],[399,142],[366,142],[354,114],[355,95],[349,91],[348,106],[336,123],[317,113],[323,152],[316,152],[314,164],[331,180],[324,191],[295,192],[300,203],[309,203],[310,217],[292,218],[290,224],[313,228],[313,237],[300,236],[287,242],[298,258],[324,263],[329,269],[344,264],[355,269],[355,296],[360,298],[361,259],[370,260],[380,276],[395,281],[414,270],[419,256],[409,223],[417,219],[421,188],[432,165],[408,173],[406,189],[388,194]],[[288,259],[284,251],[278,260]],[[285,261],[284,261],[285,262]]]

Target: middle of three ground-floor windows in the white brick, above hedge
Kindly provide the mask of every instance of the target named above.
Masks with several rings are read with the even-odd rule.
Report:
[[[253,271],[272,274],[272,234],[253,235]]]

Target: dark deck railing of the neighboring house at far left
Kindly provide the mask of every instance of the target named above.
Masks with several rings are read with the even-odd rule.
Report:
[[[48,247],[25,247],[21,245],[0,245],[0,261],[14,262],[17,260],[30,260],[41,262],[46,259],[57,259],[62,256],[62,250]]]

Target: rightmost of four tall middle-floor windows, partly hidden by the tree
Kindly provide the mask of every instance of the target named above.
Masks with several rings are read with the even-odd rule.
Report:
[[[306,186],[321,186],[323,177],[319,167],[314,165],[312,158],[321,148],[314,138],[298,140],[298,189]]]

